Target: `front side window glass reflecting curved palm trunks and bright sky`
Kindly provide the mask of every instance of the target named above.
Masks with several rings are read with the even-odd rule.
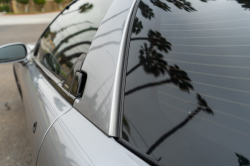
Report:
[[[40,40],[37,59],[66,80],[80,55],[86,55],[113,0],[81,0],[63,11]]]

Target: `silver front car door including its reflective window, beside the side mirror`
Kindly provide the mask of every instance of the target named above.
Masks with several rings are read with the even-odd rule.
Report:
[[[45,30],[35,50],[28,55],[29,62],[14,65],[26,110],[33,161],[36,161],[49,127],[72,108],[79,95],[77,82],[72,88],[71,84],[75,75],[84,78],[77,71],[96,28],[92,23],[82,21],[81,14],[91,8],[86,3],[73,2]],[[84,34],[81,30],[90,33]],[[82,42],[82,38],[86,41]]]

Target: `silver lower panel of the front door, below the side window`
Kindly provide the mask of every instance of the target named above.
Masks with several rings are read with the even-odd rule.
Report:
[[[33,159],[36,160],[42,139],[53,121],[72,108],[49,83],[34,63],[15,64],[26,110]],[[35,133],[34,123],[37,123]]]

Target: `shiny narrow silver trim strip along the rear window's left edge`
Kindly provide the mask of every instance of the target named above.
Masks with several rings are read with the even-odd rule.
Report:
[[[136,2],[139,0],[134,0],[132,3],[129,14],[124,25],[124,31],[121,40],[121,47],[119,50],[118,61],[117,61],[117,70],[114,78],[114,91],[111,105],[111,117],[110,117],[110,127],[108,135],[111,137],[119,136],[119,110],[120,110],[120,96],[121,96],[121,85],[122,85],[122,73],[123,73],[123,63],[125,58],[126,43],[128,38],[128,32],[130,27],[130,20],[133,16],[133,11],[136,6]]]

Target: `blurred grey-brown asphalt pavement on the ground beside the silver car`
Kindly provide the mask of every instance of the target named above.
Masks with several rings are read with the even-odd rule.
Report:
[[[8,21],[0,15],[0,45],[35,43],[56,16],[53,14],[43,15],[43,19],[39,15],[40,24],[31,19],[37,15],[11,16]],[[23,25],[20,24],[22,19]],[[0,166],[32,165],[34,161],[27,132],[24,105],[15,84],[13,65],[0,64]]]

